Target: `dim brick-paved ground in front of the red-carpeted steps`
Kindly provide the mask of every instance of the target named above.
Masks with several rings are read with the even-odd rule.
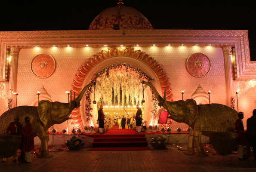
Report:
[[[185,145],[184,145],[185,146]],[[50,159],[32,157],[32,163],[0,164],[0,172],[256,172],[253,157],[240,162],[218,163],[218,156],[194,157],[168,145],[168,150],[152,151],[79,151],[51,153]],[[32,154],[31,154],[32,156]],[[222,158],[222,157],[219,157]],[[230,160],[230,156],[224,157]]]

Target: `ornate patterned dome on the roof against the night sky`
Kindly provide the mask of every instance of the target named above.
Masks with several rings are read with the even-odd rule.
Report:
[[[125,6],[119,0],[117,6],[102,11],[91,23],[89,30],[113,30],[113,25],[119,29],[153,29],[151,23],[142,13],[130,6]]]

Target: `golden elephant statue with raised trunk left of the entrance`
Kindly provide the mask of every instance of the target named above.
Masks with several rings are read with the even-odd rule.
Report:
[[[85,93],[86,89],[96,83],[90,83],[83,88],[80,95],[72,101],[72,93],[70,94],[70,103],[61,103],[59,101],[50,102],[48,100],[42,100],[39,102],[38,107],[35,106],[18,106],[4,112],[0,116],[0,135],[6,134],[6,129],[13,121],[15,116],[20,117],[22,126],[25,126],[25,117],[31,118],[31,124],[33,126],[34,137],[38,136],[41,140],[41,147],[38,155],[40,157],[49,157],[48,141],[49,134],[48,129],[54,124],[60,124],[66,120],[70,120],[69,115],[80,106],[80,101]],[[75,95],[74,95],[75,97]]]

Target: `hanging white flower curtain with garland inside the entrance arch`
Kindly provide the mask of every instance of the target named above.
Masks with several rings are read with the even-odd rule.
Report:
[[[153,79],[142,73],[139,68],[133,68],[125,63],[115,64],[96,73],[90,83],[96,82],[96,100],[102,100],[107,106],[112,105],[112,88],[114,87],[114,97],[117,98],[117,104],[139,104],[143,100],[142,83],[145,80],[152,83]],[[86,121],[93,115],[90,113],[91,107],[90,94],[93,93],[93,86],[86,92],[87,104],[85,105]],[[122,97],[120,96],[122,89]],[[120,101],[122,98],[123,101]],[[124,101],[126,100],[126,102]],[[130,100],[130,101],[129,101]],[[114,99],[115,101],[115,99]],[[115,104],[115,102],[114,102]]]

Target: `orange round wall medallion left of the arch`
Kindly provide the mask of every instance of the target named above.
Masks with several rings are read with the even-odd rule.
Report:
[[[51,76],[55,67],[55,59],[49,54],[39,54],[31,61],[31,71],[39,78]]]

